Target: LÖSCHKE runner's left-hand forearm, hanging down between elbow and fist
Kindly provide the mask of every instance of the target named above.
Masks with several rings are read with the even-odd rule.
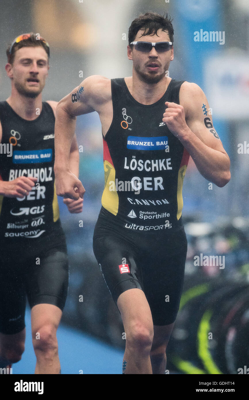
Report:
[[[70,169],[70,148],[75,128],[76,117],[70,116],[59,103],[56,109],[54,128],[55,172],[61,169]]]

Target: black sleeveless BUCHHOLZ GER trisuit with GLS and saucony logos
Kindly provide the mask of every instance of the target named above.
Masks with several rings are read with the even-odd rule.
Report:
[[[0,332],[15,334],[25,327],[26,295],[30,307],[63,309],[68,258],[54,186],[53,110],[43,102],[36,120],[27,121],[4,101],[0,121],[0,179],[38,178],[24,198],[0,196]],[[4,144],[12,144],[12,156],[4,154]]]

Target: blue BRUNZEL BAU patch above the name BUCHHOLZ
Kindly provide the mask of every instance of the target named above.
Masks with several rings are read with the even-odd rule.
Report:
[[[13,151],[14,164],[31,164],[52,161],[52,149]]]

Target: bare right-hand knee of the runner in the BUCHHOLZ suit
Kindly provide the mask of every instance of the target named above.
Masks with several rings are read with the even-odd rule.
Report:
[[[52,323],[45,324],[33,330],[32,338],[34,351],[38,353],[56,353],[58,350],[56,330],[56,326]]]

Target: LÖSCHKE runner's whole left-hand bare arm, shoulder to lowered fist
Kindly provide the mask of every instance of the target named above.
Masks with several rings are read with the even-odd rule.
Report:
[[[70,148],[76,128],[76,116],[98,111],[106,101],[110,80],[99,75],[86,78],[70,94],[65,96],[56,109],[55,164],[56,193],[58,196],[78,200],[85,189],[70,170]]]

